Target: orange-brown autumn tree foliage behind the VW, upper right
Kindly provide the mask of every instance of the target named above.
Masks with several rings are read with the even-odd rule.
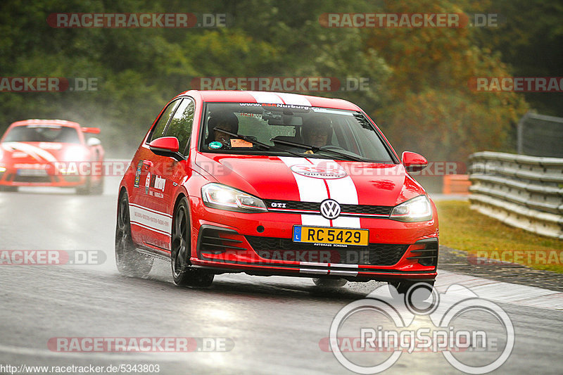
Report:
[[[486,4],[469,0],[405,0],[381,11],[466,13],[483,6]],[[367,45],[376,49],[393,72],[384,84],[384,105],[374,111],[374,117],[398,151],[460,162],[476,151],[513,151],[514,127],[527,110],[524,98],[469,87],[472,77],[510,76],[499,53],[474,44],[473,35],[481,30],[426,27],[371,32]]]

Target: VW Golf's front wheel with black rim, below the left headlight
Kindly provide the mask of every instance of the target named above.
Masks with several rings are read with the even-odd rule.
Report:
[[[182,198],[174,212],[172,220],[172,278],[178,286],[206,287],[213,283],[215,274],[191,267],[191,222],[188,213],[188,201]]]

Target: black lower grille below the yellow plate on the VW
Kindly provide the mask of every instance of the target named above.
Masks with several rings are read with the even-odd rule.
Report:
[[[246,236],[246,240],[262,258],[345,265],[395,265],[408,248],[408,245],[392,243],[369,243],[368,246],[341,248],[260,236]]]

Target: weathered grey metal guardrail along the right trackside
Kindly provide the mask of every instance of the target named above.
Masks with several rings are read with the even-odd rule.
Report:
[[[563,240],[563,158],[479,152],[469,156],[471,208]]]

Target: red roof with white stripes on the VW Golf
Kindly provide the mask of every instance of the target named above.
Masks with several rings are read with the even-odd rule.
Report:
[[[355,104],[343,99],[322,98],[320,96],[289,94],[284,92],[190,90],[181,95],[199,96],[205,102],[279,103],[296,106],[360,110]]]

